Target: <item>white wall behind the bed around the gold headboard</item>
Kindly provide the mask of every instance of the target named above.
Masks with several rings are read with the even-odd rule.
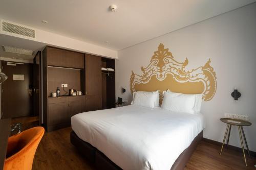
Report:
[[[178,61],[188,58],[188,68],[203,66],[211,59],[217,74],[217,92],[203,102],[206,118],[204,137],[222,142],[226,125],[220,122],[224,112],[250,116],[252,126],[245,127],[249,149],[256,151],[256,3],[199,22],[195,25],[145,41],[118,52],[116,97],[131,102],[131,70],[140,74],[160,43],[169,48]],[[161,27],[161,26],[156,26]],[[126,88],[124,94],[121,87]],[[230,93],[237,87],[242,93],[235,103]],[[230,144],[240,147],[238,130],[233,127]]]

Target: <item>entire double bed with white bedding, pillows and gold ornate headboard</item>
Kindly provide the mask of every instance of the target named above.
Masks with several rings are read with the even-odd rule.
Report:
[[[159,92],[160,99],[148,104],[154,107],[141,107],[143,101],[140,106],[133,103],[74,115],[71,142],[98,169],[184,169],[203,137],[202,99],[210,101],[217,89],[210,62],[188,70],[187,58],[178,62],[160,43],[150,63],[141,66],[141,74],[132,71],[130,78],[133,102],[139,92]],[[189,94],[195,95],[195,103],[183,101],[192,98]],[[174,101],[176,97],[179,100]],[[179,107],[173,107],[176,104]],[[181,111],[185,108],[190,110]],[[197,114],[189,114],[194,111]]]

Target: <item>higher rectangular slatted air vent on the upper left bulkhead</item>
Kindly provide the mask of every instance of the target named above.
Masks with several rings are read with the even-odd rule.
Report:
[[[35,38],[35,30],[33,29],[18,26],[6,21],[2,22],[2,28],[3,28],[3,31],[9,32],[9,33],[14,33],[14,34],[23,35],[26,37]]]

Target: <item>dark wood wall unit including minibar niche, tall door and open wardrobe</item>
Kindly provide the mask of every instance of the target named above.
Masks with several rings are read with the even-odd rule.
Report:
[[[102,109],[102,96],[106,99],[106,95],[111,95],[106,103],[115,103],[115,86],[106,85],[108,91],[104,95],[102,92],[102,61],[112,59],[52,46],[46,46],[42,54],[43,124],[48,132],[69,127],[71,117],[77,113]],[[115,65],[115,60],[112,62]],[[63,89],[61,84],[68,87]],[[57,87],[61,95],[53,98],[51,93],[56,92]],[[81,91],[82,95],[68,95],[65,91],[69,89]]]

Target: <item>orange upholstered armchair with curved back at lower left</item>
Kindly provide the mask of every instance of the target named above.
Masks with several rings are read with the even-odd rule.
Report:
[[[35,127],[9,137],[4,170],[32,169],[34,155],[44,133],[44,128]]]

